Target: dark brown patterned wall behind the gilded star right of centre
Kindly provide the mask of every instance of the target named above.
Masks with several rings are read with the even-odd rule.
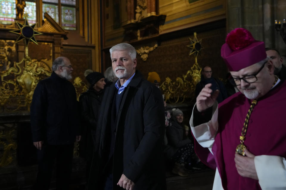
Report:
[[[203,47],[201,56],[198,56],[198,64],[201,67],[211,66],[213,75],[220,78],[225,78],[227,72],[220,57],[220,48],[225,41],[225,35],[225,28],[197,34],[198,39],[202,39]],[[192,32],[188,36],[161,42],[161,45],[149,53],[147,61],[143,61],[137,55],[136,68],[142,72],[145,78],[148,77],[148,72],[156,71],[161,78],[161,83],[166,77],[175,80],[176,77],[185,75],[195,63],[195,56],[189,56],[190,49],[187,47],[190,44],[189,38],[193,38]],[[136,49],[138,48],[136,46]]]

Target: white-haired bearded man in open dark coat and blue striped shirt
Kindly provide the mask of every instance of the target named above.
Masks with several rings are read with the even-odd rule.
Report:
[[[105,89],[96,131],[89,189],[166,188],[160,90],[136,71],[136,50],[111,47],[117,82]]]

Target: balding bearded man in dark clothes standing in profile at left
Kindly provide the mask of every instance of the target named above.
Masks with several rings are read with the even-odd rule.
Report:
[[[73,68],[58,57],[52,75],[35,88],[31,104],[32,137],[38,156],[34,189],[49,189],[56,160],[57,189],[68,189],[74,141],[80,141],[77,96],[70,80]]]

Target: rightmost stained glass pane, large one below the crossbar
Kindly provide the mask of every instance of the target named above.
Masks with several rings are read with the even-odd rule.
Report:
[[[74,7],[62,6],[62,27],[65,30],[76,30],[76,16]]]

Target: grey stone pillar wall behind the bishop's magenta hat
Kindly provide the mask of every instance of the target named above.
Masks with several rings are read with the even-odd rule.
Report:
[[[227,33],[238,27],[248,29],[255,39],[265,42],[265,47],[276,48],[286,56],[286,44],[274,26],[274,20],[283,19],[285,0],[227,0]]]

